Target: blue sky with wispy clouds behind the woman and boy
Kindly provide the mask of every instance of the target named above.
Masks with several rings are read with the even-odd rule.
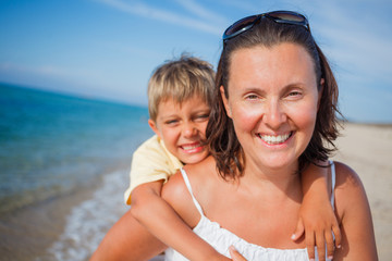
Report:
[[[390,0],[1,0],[0,82],[146,105],[157,65],[216,67],[231,23],[280,9],[309,18],[346,119],[392,123]]]

